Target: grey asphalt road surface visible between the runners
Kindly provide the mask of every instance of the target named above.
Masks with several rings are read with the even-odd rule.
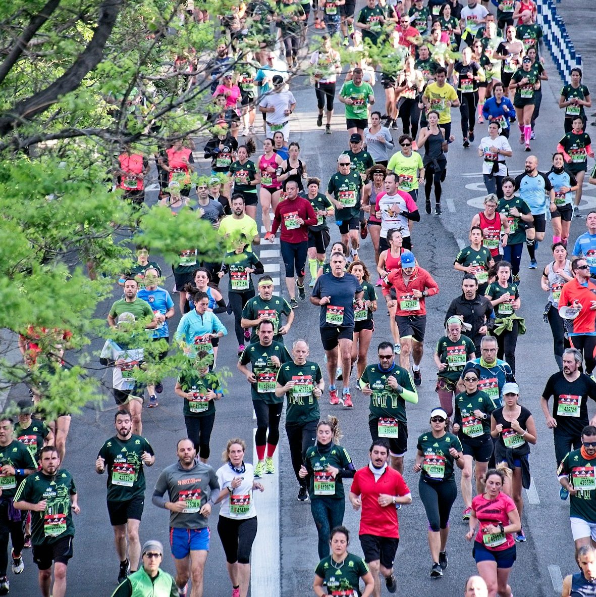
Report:
[[[560,91],[560,81],[551,64],[546,63],[551,80],[543,86],[543,103],[541,117],[536,128],[536,140],[533,141],[533,153],[538,155],[539,167],[547,171],[550,165],[550,155],[555,150],[557,141],[563,134],[563,117],[555,106]],[[589,85],[589,81],[587,83]],[[337,114],[333,118],[333,134],[323,136],[322,130],[315,125],[316,103],[314,91],[302,82],[292,84],[292,90],[297,98],[297,110],[291,121],[292,140],[301,144],[301,158],[307,163],[308,172],[320,176],[323,181],[335,171],[336,156],[347,149],[347,135],[340,104],[336,101]],[[383,91],[380,85],[375,88],[377,104],[383,101]],[[422,386],[419,388],[419,403],[408,405],[409,420],[409,452],[405,457],[404,478],[412,490],[413,503],[403,507],[400,512],[400,547],[396,559],[396,575],[399,583],[398,595],[435,596],[459,595],[462,593],[464,579],[475,573],[474,560],[471,556],[471,546],[464,539],[467,525],[461,522],[459,513],[463,508],[461,497],[453,507],[451,536],[447,550],[450,564],[444,577],[432,581],[430,571],[430,555],[428,555],[426,531],[427,521],[424,508],[418,499],[418,475],[412,472],[415,454],[415,439],[428,427],[428,412],[438,404],[434,392],[434,376],[436,370],[432,360],[432,352],[438,337],[443,333],[442,322],[444,312],[453,297],[460,292],[461,274],[453,270],[452,263],[458,251],[458,244],[467,244],[467,230],[477,203],[474,201],[484,195],[484,187],[480,176],[481,163],[474,147],[464,150],[461,146],[459,132],[459,111],[452,111],[453,126],[456,141],[450,147],[448,155],[448,174],[443,189],[443,215],[427,216],[424,205],[421,205],[422,221],[415,224],[413,229],[414,252],[419,263],[430,270],[440,287],[440,294],[428,300],[428,325],[425,340],[425,356],[422,360]],[[480,138],[481,127],[477,127],[477,139]],[[394,140],[401,131],[393,131]],[[512,133],[514,155],[508,159],[510,171],[521,171],[526,155],[517,144],[517,134]],[[262,136],[260,136],[262,139]],[[195,157],[200,157],[200,151]],[[206,164],[205,164],[206,165]],[[586,195],[582,204],[583,213],[587,213],[589,205],[594,205],[594,187],[591,191],[586,186]],[[592,196],[588,196],[592,195]],[[148,192],[149,203],[155,202],[156,192]],[[338,238],[335,226],[331,226],[332,238]],[[585,220],[573,220],[571,238],[585,231]],[[547,230],[547,238],[551,230]],[[523,404],[535,414],[538,425],[538,445],[532,448],[530,459],[533,476],[533,490],[530,494],[524,492],[526,509],[524,510],[524,530],[528,536],[527,543],[518,544],[518,560],[511,575],[511,586],[515,595],[524,597],[542,597],[554,595],[554,587],[560,582],[560,574],[572,573],[576,570],[573,561],[573,541],[569,529],[569,504],[558,498],[558,484],[555,476],[554,450],[552,435],[546,429],[542,413],[539,409],[541,395],[546,378],[556,370],[552,356],[552,341],[548,325],[542,321],[542,310],[546,302],[546,294],[540,288],[542,267],[549,261],[547,243],[541,245],[538,251],[539,267],[527,270],[528,258],[524,253],[522,261],[522,281],[520,294],[522,307],[520,315],[526,318],[528,332],[520,337],[517,347],[518,371],[517,379],[521,387]],[[273,247],[262,247],[274,250]],[[373,255],[370,239],[362,243],[363,259],[373,268]],[[275,270],[280,261],[276,257],[264,259]],[[282,266],[283,268],[283,266]],[[169,271],[169,268],[164,270]],[[274,275],[276,275],[274,273]],[[173,278],[169,274],[164,286],[171,289]],[[283,288],[285,294],[285,288]],[[115,287],[115,297],[120,291]],[[380,298],[380,296],[379,296]],[[382,298],[381,298],[382,301]],[[174,298],[174,302],[177,300]],[[104,316],[109,304],[100,306],[98,316]],[[317,309],[308,300],[300,303],[294,327],[288,337],[288,342],[299,337],[307,338],[311,345],[310,358],[323,365],[323,349],[319,340],[319,331],[313,327],[316,321]],[[376,354],[376,344],[381,340],[390,339],[388,334],[388,318],[385,309],[379,308],[375,315],[376,330],[369,351],[369,358]],[[228,368],[233,372],[229,383],[229,393],[217,405],[215,428],[212,435],[212,456],[210,463],[216,469],[220,466],[219,454],[226,440],[231,436],[240,435],[250,440],[254,429],[252,404],[248,383],[236,371],[236,341],[233,334],[233,317],[223,316],[230,335],[220,344],[218,366]],[[175,328],[177,319],[172,322]],[[91,351],[97,355],[101,349],[101,342],[94,341]],[[106,373],[109,381],[110,374]],[[168,379],[164,383],[165,390],[159,397],[159,408],[144,410],[144,435],[152,443],[156,451],[156,463],[151,469],[146,469],[147,499],[146,508],[141,523],[141,542],[148,538],[158,538],[164,544],[168,543],[168,513],[151,504],[153,484],[160,470],[175,460],[175,442],[186,435],[182,416],[180,399],[174,395],[174,380]],[[10,399],[17,397],[18,392],[12,392]],[[322,416],[327,413],[338,414],[341,420],[345,438],[345,445],[357,467],[365,466],[368,462],[368,448],[370,437],[368,432],[368,401],[359,392],[354,392],[353,410],[344,411],[341,407],[331,407],[326,399],[321,401]],[[82,513],[76,518],[75,556],[69,564],[69,595],[89,595],[100,597],[110,595],[116,586],[118,562],[113,551],[112,530],[107,518],[105,503],[105,477],[96,475],[94,461],[98,448],[103,441],[113,435],[112,399],[106,393],[102,404],[89,404],[80,416],[73,418],[72,430],[67,445],[65,465],[73,473],[79,490],[79,504]],[[282,423],[283,429],[283,423]],[[249,442],[251,443],[251,442]],[[251,450],[248,451],[250,459]],[[279,510],[268,506],[259,510],[259,522],[262,528],[260,538],[255,543],[253,554],[254,563],[258,561],[260,577],[273,578],[279,575],[281,589],[268,589],[261,593],[253,593],[257,597],[284,597],[294,595],[311,595],[311,584],[317,558],[317,535],[311,518],[310,507],[306,503],[298,503],[298,490],[294,473],[289,460],[288,443],[282,431],[279,450],[279,475],[267,477],[267,492],[273,498],[279,487]],[[458,475],[459,476],[459,475]],[[277,485],[279,482],[279,486]],[[349,482],[346,484],[349,487]],[[231,587],[224,565],[224,555],[221,543],[217,537],[212,521],[211,553],[206,565],[205,595],[208,597],[224,597],[230,595]],[[279,537],[276,531],[276,521],[279,516]],[[351,550],[360,551],[357,540],[359,515],[351,510],[348,503],[345,510],[344,523],[353,533]],[[273,530],[267,531],[268,523]],[[263,535],[263,533],[265,533]],[[278,544],[279,543],[279,544]],[[167,548],[166,548],[167,550]],[[24,552],[25,571],[20,576],[14,576],[9,571],[11,594],[36,595],[38,593],[37,575],[32,563],[30,551]],[[164,558],[163,567],[169,572],[174,571],[174,565],[169,556]],[[263,586],[263,585],[260,585]],[[385,591],[385,589],[384,589]],[[385,594],[385,593],[384,593]]]

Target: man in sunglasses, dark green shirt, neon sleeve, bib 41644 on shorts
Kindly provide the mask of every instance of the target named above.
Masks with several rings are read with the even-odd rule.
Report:
[[[385,438],[390,466],[403,475],[403,457],[407,452],[406,401],[418,404],[418,392],[407,370],[394,361],[390,342],[381,342],[376,351],[378,364],[368,365],[359,380],[362,393],[370,396],[370,437],[373,441]]]

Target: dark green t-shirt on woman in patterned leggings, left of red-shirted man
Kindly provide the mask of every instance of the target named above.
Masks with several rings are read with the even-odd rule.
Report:
[[[344,500],[345,493],[341,482],[341,474],[333,479],[327,472],[327,467],[331,464],[331,466],[341,470],[347,468],[351,461],[352,459],[345,451],[345,448],[335,445],[333,442],[326,451],[324,448],[320,450],[318,444],[308,448],[304,457],[304,466],[308,470],[310,478],[311,500],[323,496]]]

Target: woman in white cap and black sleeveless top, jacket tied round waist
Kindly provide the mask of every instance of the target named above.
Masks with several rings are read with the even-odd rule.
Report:
[[[521,521],[524,510],[521,488],[530,487],[529,444],[536,444],[538,434],[532,413],[518,404],[519,398],[520,387],[517,383],[506,383],[503,387],[503,406],[490,415],[490,435],[497,438],[497,465],[505,463],[512,470],[512,478],[508,476],[503,487],[505,493],[513,498]],[[515,541],[526,541],[523,528],[517,531]]]

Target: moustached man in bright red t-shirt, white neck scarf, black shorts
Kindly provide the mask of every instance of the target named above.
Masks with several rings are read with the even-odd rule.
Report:
[[[399,544],[397,509],[412,503],[412,494],[397,470],[387,465],[387,439],[375,439],[370,447],[368,466],[356,471],[348,497],[354,510],[362,506],[360,546],[365,562],[375,578],[373,597],[381,597],[379,572],[390,593],[397,590],[393,561]]]

